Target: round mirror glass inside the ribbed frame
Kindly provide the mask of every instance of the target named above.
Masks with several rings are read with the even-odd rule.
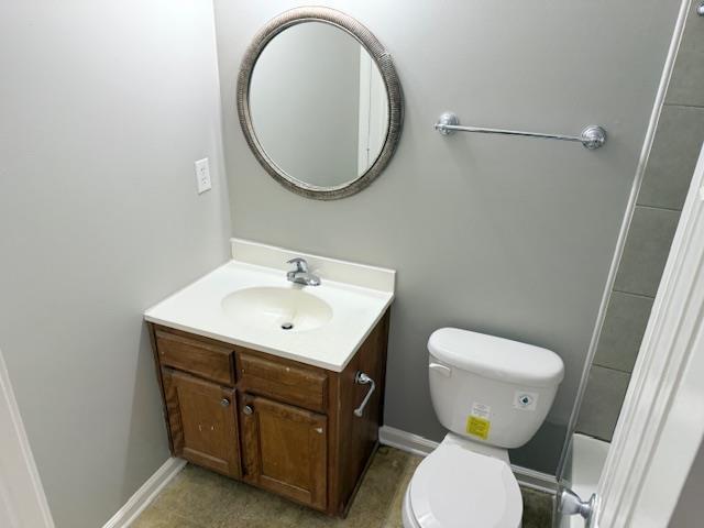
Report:
[[[364,175],[388,132],[376,63],[354,36],[324,22],[272,38],[254,65],[249,103],[266,156],[310,186],[334,188]]]

